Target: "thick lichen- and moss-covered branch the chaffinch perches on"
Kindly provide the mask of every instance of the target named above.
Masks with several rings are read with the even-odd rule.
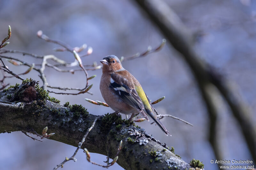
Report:
[[[48,126],[47,132],[55,133],[50,139],[77,147],[99,116],[89,114],[81,105],[64,107],[46,100],[47,93],[35,84],[35,81],[26,81],[0,92],[0,133],[27,131],[40,134]],[[115,114],[100,116],[81,148],[113,159],[120,140],[123,140],[123,147],[117,163],[124,169],[191,168],[165,144]]]

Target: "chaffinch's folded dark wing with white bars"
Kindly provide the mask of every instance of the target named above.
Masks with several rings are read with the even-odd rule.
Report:
[[[135,90],[133,80],[128,81],[127,78],[122,74],[112,73],[109,88],[112,89],[125,103],[138,110],[142,116],[148,120],[148,117],[143,110],[144,105]]]

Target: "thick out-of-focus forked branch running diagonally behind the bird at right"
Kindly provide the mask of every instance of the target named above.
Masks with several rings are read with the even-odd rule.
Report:
[[[161,0],[135,0],[136,3],[148,14],[150,20],[155,23],[161,30],[163,35],[172,46],[181,54],[180,56],[186,61],[192,70],[198,87],[207,105],[210,117],[210,143],[215,152],[217,159],[222,157],[220,146],[217,145],[215,124],[218,114],[216,113],[216,105],[211,98],[215,93],[208,92],[209,84],[215,86],[220,94],[226,99],[233,116],[242,129],[247,146],[251,152],[254,162],[256,162],[256,125],[252,121],[253,116],[250,112],[248,104],[238,94],[238,90],[232,88],[231,83],[226,80],[221,73],[217,72],[212,66],[201,60],[199,54],[193,46],[193,37],[189,33],[186,26],[183,25],[180,18],[173,10]]]

